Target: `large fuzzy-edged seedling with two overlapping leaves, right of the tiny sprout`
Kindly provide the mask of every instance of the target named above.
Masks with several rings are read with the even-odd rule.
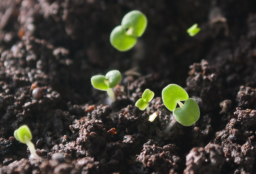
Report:
[[[194,99],[188,98],[188,93],[182,87],[176,84],[168,85],[162,91],[162,99],[166,108],[173,111],[173,117],[181,125],[190,126],[198,120],[199,106]],[[185,101],[185,103],[180,101]],[[180,108],[176,108],[177,103]]]

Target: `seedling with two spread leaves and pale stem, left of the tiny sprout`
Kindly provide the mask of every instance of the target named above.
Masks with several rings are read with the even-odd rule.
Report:
[[[116,87],[120,81],[121,73],[118,70],[109,71],[105,76],[95,75],[91,78],[92,86],[96,89],[107,91],[112,101],[115,100],[115,94],[112,88]]]

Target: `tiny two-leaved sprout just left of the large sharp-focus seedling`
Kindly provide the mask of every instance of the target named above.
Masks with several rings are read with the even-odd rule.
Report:
[[[150,89],[145,89],[141,98],[135,103],[140,110],[145,110],[148,106],[148,102],[150,102],[154,97],[154,92],[150,91]]]

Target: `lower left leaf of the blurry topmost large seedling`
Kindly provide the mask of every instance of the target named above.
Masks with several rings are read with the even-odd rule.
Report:
[[[137,38],[127,35],[123,26],[117,26],[110,34],[111,45],[119,51],[127,51],[134,47]]]

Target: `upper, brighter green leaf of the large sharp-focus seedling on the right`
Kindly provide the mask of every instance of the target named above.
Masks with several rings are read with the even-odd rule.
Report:
[[[170,84],[163,89],[162,99],[166,108],[173,111],[179,101],[188,99],[188,93],[179,85]]]

